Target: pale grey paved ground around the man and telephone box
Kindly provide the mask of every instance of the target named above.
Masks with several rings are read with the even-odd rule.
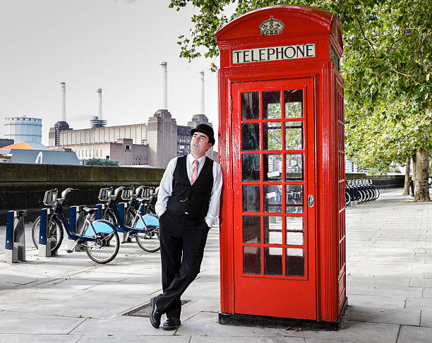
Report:
[[[347,209],[347,296],[342,330],[284,330],[217,323],[218,230],[176,332],[122,315],[160,292],[160,255],[122,244],[108,265],[85,253],[40,258],[30,236],[26,263],[4,263],[0,227],[0,342],[432,342],[432,203],[402,190]],[[28,230],[30,231],[30,230]],[[164,320],[164,317],[162,317]]]

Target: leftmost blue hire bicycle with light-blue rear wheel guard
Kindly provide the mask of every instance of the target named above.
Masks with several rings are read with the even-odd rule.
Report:
[[[71,191],[78,191],[73,188],[66,188],[61,193],[61,198],[57,198],[57,188],[45,192],[44,205],[50,209],[47,217],[47,241],[49,242],[51,253],[55,253],[61,246],[64,232],[75,241],[76,246],[83,247],[88,257],[96,263],[104,264],[112,261],[119,252],[120,239],[116,228],[107,220],[92,220],[92,217],[97,212],[97,208],[84,207],[85,219],[80,227],[79,234],[72,231],[66,216],[64,215],[63,203],[66,195]],[[35,247],[38,248],[40,235],[40,219],[37,217],[32,227],[32,241]],[[73,248],[68,252],[72,252]]]

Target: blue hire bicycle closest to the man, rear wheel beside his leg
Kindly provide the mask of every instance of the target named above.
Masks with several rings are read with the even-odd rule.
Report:
[[[138,195],[133,195],[133,186],[123,187],[120,186],[114,191],[112,195],[113,188],[101,188],[99,193],[99,200],[107,204],[107,207],[112,211],[116,219],[116,230],[118,232],[126,232],[126,238],[124,241],[128,240],[128,237],[135,237],[138,246],[147,251],[148,253],[154,253],[160,249],[159,240],[159,219],[156,215],[145,214],[145,203],[148,201],[147,198],[140,198]],[[119,209],[116,206],[116,198],[121,196],[123,200],[128,202],[131,198],[138,201],[138,209],[134,210],[132,206],[128,206],[124,216],[120,215]],[[129,223],[126,224],[126,215],[129,213],[131,219],[127,219]],[[143,214],[144,213],[144,214]]]

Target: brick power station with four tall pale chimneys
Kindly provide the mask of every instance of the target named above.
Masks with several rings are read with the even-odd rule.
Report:
[[[85,162],[90,158],[114,160],[119,165],[149,165],[167,167],[173,157],[190,152],[191,129],[198,124],[212,124],[204,114],[204,72],[201,80],[201,114],[192,116],[187,126],[179,126],[167,109],[167,63],[162,62],[162,104],[147,124],[106,126],[102,119],[102,89],[97,89],[99,114],[93,116],[91,128],[73,130],[66,122],[66,84],[61,83],[63,113],[61,121],[49,129],[49,148],[51,150],[71,149],[78,159]],[[217,137],[217,135],[215,135]],[[214,159],[211,148],[208,157]]]

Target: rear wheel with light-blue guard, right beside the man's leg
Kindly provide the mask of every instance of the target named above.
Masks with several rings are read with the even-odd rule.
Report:
[[[143,224],[143,219],[146,225]],[[143,219],[138,219],[133,225],[136,229],[145,230],[145,232],[136,233],[136,243],[143,251],[155,253],[160,249],[159,220],[155,215],[145,215]]]

